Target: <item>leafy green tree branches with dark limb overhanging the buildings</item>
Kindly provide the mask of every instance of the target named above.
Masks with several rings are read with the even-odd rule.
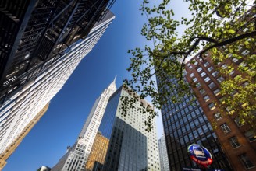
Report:
[[[145,45],[128,51],[133,55],[127,68],[132,79],[124,79],[124,84],[140,96],[133,100],[123,97],[123,114],[127,107],[133,107],[135,100],[148,96],[158,109],[169,97],[173,103],[179,102],[182,96],[190,93],[189,87],[194,86],[193,82],[184,81],[185,61],[197,53],[204,60],[204,54],[210,51],[215,64],[243,59],[243,65],[236,68],[240,74],[235,79],[229,76],[234,65],[219,69],[225,77],[221,83],[223,103],[220,106],[223,110],[229,109],[229,114],[238,113],[240,122],[250,124],[256,131],[255,4],[250,6],[244,0],[190,0],[186,3],[190,4],[191,17],[180,20],[173,19],[175,14],[170,8],[170,0],[162,0],[158,5],[151,5],[148,0],[142,3],[140,11],[148,23],[144,23],[141,34],[153,46]],[[187,29],[180,34],[177,32],[179,26]],[[254,53],[241,55],[238,53],[240,46]],[[154,75],[157,75],[158,88]],[[177,84],[170,82],[172,78],[177,80]],[[176,91],[179,97],[170,96],[172,91]],[[157,115],[154,110],[150,112],[151,118]],[[145,122],[148,131],[151,130],[151,118]]]

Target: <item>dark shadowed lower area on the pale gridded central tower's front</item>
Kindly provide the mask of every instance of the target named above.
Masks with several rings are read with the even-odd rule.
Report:
[[[116,117],[103,170],[147,170],[147,158],[147,137]]]

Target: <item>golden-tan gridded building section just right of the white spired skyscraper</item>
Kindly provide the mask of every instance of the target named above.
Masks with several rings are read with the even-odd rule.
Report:
[[[93,169],[94,162],[98,162],[101,165],[104,164],[105,156],[108,150],[108,143],[109,139],[105,138],[101,132],[98,132],[85,166],[86,171],[91,171]]]

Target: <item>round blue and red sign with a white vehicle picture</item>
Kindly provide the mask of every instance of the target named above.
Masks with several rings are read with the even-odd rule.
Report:
[[[212,164],[212,155],[208,149],[204,148],[201,145],[190,145],[187,148],[187,151],[190,153],[190,159],[197,164],[207,167]]]

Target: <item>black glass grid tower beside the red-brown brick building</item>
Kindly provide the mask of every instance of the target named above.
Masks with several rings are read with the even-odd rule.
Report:
[[[176,83],[175,79],[170,81]],[[171,92],[171,96],[177,96],[177,93]],[[210,168],[232,170],[211,124],[193,95],[183,96],[179,103],[169,100],[162,107],[162,120],[170,170],[199,168],[187,152],[191,144],[203,145],[212,153],[213,163]]]

